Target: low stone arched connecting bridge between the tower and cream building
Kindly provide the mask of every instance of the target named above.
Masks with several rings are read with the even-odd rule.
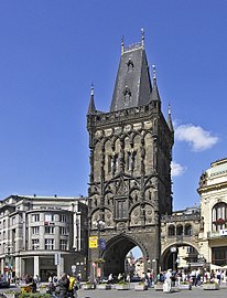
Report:
[[[161,220],[162,269],[203,266],[198,263],[201,232],[199,206],[163,215]],[[174,263],[175,262],[175,263]]]

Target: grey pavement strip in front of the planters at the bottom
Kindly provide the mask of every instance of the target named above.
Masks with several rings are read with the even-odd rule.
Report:
[[[133,288],[130,290],[78,290],[78,298],[226,298],[227,288],[220,288],[219,290],[204,290],[203,288],[193,288],[192,290],[181,290],[177,292],[165,294],[163,291],[158,291],[152,289],[137,291]]]

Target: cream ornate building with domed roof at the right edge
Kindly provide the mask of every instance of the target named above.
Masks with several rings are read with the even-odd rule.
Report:
[[[199,181],[199,256],[210,268],[227,266],[227,159],[217,160]]]

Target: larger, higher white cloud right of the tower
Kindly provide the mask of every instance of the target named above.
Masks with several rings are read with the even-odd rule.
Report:
[[[209,131],[204,130],[201,126],[192,124],[176,127],[175,139],[188,142],[193,151],[209,149],[219,140],[218,137],[212,136]]]

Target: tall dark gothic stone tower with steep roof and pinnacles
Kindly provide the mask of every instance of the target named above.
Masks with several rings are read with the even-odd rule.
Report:
[[[102,243],[89,249],[90,266],[105,259],[105,276],[122,273],[126,255],[138,245],[145,268],[155,270],[160,259],[160,217],[172,213],[174,140],[171,115],[165,121],[161,111],[155,71],[151,84],[143,32],[141,42],[134,45],[125,47],[121,41],[109,113],[96,109],[91,88],[87,129],[89,236],[98,236]]]

